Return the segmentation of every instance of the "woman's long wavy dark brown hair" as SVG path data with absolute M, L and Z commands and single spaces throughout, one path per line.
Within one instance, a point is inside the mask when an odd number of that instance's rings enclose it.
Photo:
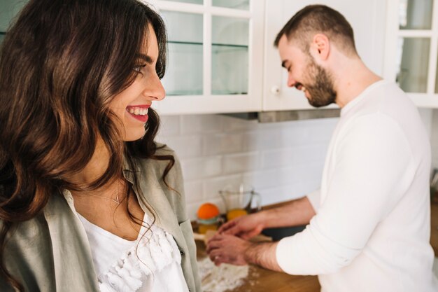
M 148 112 L 145 136 L 125 143 L 108 109 L 134 81 L 148 25 L 157 36 L 162 78 L 164 22 L 137 0 L 31 0 L 6 33 L 0 48 L 0 276 L 18 291 L 22 285 L 3 263 L 6 235 L 41 212 L 51 195 L 104 186 L 120 176 L 124 158 L 132 169 L 136 158 L 169 160 L 164 180 L 174 165 L 171 155 L 155 155 L 155 111 Z M 85 187 L 62 179 L 90 162 L 99 138 L 110 153 L 106 172 Z M 129 188 L 139 190 L 134 181 Z

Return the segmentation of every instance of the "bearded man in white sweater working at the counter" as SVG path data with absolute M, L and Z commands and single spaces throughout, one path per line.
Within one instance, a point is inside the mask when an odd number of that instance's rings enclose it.
M 216 265 L 254 263 L 318 274 L 325 292 L 432 292 L 430 145 L 418 111 L 360 60 L 353 29 L 327 6 L 306 6 L 276 37 L 288 86 L 341 118 L 321 188 L 277 209 L 222 225 L 207 251 Z M 308 224 L 280 242 L 246 241 L 264 228 Z

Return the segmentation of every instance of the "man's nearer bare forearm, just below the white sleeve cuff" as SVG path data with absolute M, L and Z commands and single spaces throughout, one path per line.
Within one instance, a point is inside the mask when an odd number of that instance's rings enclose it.
M 277 242 L 258 242 L 246 249 L 244 258 L 247 263 L 260 265 L 266 269 L 283 272 L 276 259 Z

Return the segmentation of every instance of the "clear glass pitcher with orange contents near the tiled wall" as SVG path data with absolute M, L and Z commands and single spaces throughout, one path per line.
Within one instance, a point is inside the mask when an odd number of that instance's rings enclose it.
M 262 209 L 260 194 L 255 192 L 253 186 L 246 183 L 241 183 L 238 186 L 228 185 L 220 190 L 219 194 L 225 203 L 227 221 L 249 214 L 252 211 L 252 206 L 255 206 L 256 211 Z

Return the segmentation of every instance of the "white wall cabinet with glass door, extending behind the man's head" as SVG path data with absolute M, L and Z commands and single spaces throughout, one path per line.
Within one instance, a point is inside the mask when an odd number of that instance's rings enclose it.
M 155 0 L 169 31 L 169 67 L 162 114 L 313 109 L 288 88 L 273 42 L 299 9 L 315 1 Z M 324 0 L 355 31 L 358 52 L 382 74 L 386 0 Z M 335 105 L 329 106 L 336 108 Z

